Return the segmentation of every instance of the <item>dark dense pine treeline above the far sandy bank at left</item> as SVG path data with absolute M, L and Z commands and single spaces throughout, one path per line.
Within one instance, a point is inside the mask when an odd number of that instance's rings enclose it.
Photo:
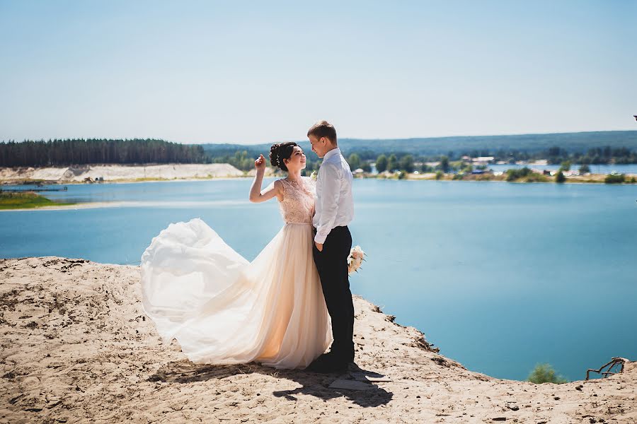
M 0 166 L 45 167 L 89 163 L 207 163 L 200 145 L 155 139 L 26 140 L 0 143 Z

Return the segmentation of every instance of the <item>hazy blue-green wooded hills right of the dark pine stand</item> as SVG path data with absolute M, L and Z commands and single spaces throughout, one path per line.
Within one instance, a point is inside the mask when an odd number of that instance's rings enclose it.
M 307 155 L 307 170 L 317 169 L 320 160 L 311 153 L 308 141 L 299 141 Z M 637 163 L 637 131 L 595 131 L 512 136 L 462 136 L 430 139 L 362 140 L 339 139 L 338 146 L 352 170 L 430 171 L 415 163 L 457 161 L 463 156 L 493 156 L 494 161 L 547 160 L 550 164 Z M 270 144 L 203 144 L 213 162 L 231 163 L 241 170 L 253 166 L 253 158 L 267 157 Z M 378 166 L 380 163 L 380 166 Z M 443 166 L 446 167 L 446 166 Z M 445 171 L 446 172 L 446 171 Z

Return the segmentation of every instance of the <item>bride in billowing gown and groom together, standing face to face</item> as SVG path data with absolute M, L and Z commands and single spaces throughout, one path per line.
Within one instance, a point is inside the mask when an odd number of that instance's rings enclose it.
M 265 158 L 255 161 L 250 200 L 276 197 L 285 225 L 253 261 L 199 218 L 168 225 L 142 254 L 144 311 L 194 363 L 343 372 L 354 361 L 352 172 L 331 124 L 317 122 L 307 136 L 323 158 L 316 182 L 301 176 L 296 143 L 270 148 L 287 176 L 263 191 Z

